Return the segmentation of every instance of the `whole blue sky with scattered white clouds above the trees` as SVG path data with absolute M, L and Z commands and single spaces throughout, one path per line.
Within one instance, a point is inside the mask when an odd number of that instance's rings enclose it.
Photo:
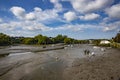
M 0 33 L 110 39 L 120 30 L 119 0 L 0 0 Z

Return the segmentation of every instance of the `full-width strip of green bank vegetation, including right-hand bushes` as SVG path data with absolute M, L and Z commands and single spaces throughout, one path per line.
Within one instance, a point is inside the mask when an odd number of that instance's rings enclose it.
M 47 45 L 47 44 L 88 44 L 92 43 L 96 46 L 104 47 L 120 47 L 120 32 L 116 34 L 112 39 L 106 39 L 110 41 L 110 44 L 100 44 L 105 39 L 88 39 L 88 40 L 77 40 L 70 38 L 66 35 L 58 34 L 55 37 L 47 37 L 44 35 L 36 35 L 34 37 L 11 37 L 9 35 L 0 33 L 0 46 L 7 46 L 12 44 L 27 44 L 27 45 Z

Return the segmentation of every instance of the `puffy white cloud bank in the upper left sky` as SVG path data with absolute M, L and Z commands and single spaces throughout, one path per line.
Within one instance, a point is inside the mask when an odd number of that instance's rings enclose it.
M 43 11 L 41 8 L 35 7 L 34 11 L 26 13 L 24 8 L 14 6 L 10 8 L 10 11 L 21 20 L 44 21 L 58 18 L 58 14 L 55 9 L 47 9 Z

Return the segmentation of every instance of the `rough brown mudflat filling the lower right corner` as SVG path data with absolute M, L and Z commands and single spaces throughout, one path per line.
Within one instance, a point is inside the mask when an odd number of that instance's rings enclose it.
M 64 80 L 120 80 L 120 50 L 109 49 L 101 56 L 76 59 Z

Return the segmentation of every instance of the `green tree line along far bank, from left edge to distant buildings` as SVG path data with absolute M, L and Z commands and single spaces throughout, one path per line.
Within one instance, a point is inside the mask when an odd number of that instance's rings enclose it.
M 0 33 L 0 46 L 11 44 L 29 44 L 29 45 L 46 45 L 46 44 L 83 44 L 89 43 L 88 40 L 76 40 L 66 35 L 58 34 L 56 37 L 47 37 L 41 34 L 34 37 L 10 37 L 9 35 Z

